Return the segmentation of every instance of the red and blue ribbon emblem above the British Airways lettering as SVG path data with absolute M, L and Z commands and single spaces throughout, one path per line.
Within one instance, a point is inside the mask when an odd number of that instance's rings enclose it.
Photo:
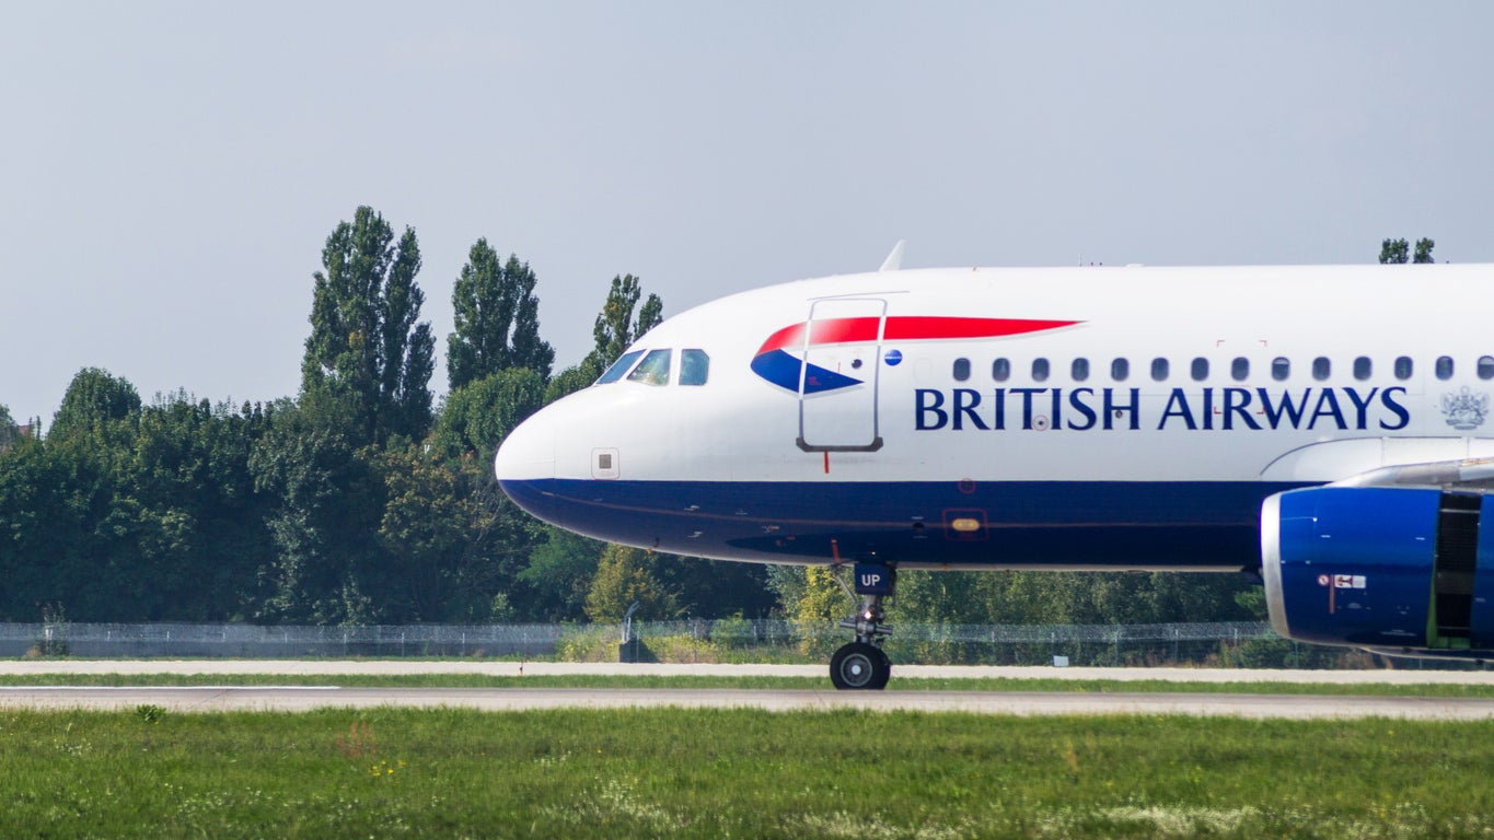
M 999 339 L 1004 336 L 1061 330 L 1074 324 L 1079 324 L 1079 321 L 944 318 L 934 315 L 825 318 L 792 324 L 768 336 L 768 340 L 753 355 L 751 372 L 778 388 L 796 394 L 799 392 L 801 382 L 805 394 L 822 394 L 825 391 L 861 385 L 865 380 L 814 364 L 814 348 L 872 345 L 878 340 L 889 343 L 944 339 Z M 805 358 L 811 361 L 805 363 Z M 887 351 L 887 364 L 898 364 L 901 358 L 902 354 L 896 349 Z

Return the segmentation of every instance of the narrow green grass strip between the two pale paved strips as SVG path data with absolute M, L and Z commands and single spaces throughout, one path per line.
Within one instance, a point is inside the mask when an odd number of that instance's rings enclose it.
M 893 671 L 895 673 L 895 671 Z M 829 676 L 484 676 L 484 674 L 0 674 L 0 686 L 339 685 L 348 688 L 726 688 L 831 691 Z M 1494 698 L 1494 685 L 1167 682 L 1074 679 L 920 679 L 893 676 L 892 691 L 1074 691 L 1092 694 L 1334 694 Z

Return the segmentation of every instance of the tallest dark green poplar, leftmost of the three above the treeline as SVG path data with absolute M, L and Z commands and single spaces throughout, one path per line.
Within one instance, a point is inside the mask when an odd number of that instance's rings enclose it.
M 435 339 L 417 324 L 420 243 L 371 207 L 341 222 L 321 251 L 302 361 L 302 394 L 330 391 L 356 418 L 360 443 L 420 439 L 430 425 Z

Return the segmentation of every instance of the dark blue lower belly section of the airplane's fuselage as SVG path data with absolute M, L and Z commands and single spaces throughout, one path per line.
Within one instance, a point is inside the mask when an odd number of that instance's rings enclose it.
M 1239 570 L 1259 565 L 1261 501 L 1283 482 L 506 480 L 583 534 L 759 562 Z

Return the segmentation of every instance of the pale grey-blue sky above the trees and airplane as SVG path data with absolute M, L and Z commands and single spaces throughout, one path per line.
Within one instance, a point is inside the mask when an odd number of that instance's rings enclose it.
M 7 3 L 0 403 L 49 421 L 85 366 L 294 395 L 359 204 L 417 230 L 441 346 L 472 242 L 527 260 L 562 366 L 613 275 L 672 313 L 898 239 L 1494 261 L 1491 31 L 1487 3 Z

